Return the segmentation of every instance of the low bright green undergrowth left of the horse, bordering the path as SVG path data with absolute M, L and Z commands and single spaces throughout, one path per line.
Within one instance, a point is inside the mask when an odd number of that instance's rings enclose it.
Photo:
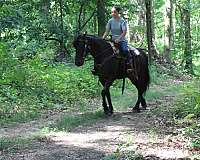
M 42 62 L 38 54 L 22 61 L 16 55 L 0 44 L 1 123 L 32 119 L 46 109 L 66 108 L 99 95 L 97 81 L 88 68 L 90 64 L 84 68 L 53 66 Z

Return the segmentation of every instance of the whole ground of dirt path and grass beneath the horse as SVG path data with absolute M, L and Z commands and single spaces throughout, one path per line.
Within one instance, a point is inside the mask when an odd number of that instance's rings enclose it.
M 172 83 L 181 85 L 180 81 Z M 190 149 L 190 139 L 181 134 L 184 126 L 174 124 L 170 110 L 181 95 L 173 89 L 166 91 L 167 87 L 150 87 L 150 91 L 162 95 L 147 98 L 148 109 L 141 113 L 116 107 L 112 116 L 69 131 L 49 128 L 63 117 L 78 117 L 79 113 L 50 111 L 34 121 L 0 128 L 0 146 L 4 146 L 0 160 L 128 160 L 134 159 L 133 155 L 142 155 L 143 159 L 192 159 L 200 153 Z M 115 95 L 114 106 L 123 105 L 130 96 L 129 91 L 121 99 Z M 101 108 L 100 100 L 94 100 L 94 104 L 95 109 Z

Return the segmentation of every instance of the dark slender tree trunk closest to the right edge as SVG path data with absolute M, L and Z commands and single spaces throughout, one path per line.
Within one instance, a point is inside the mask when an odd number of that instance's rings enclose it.
M 191 29 L 190 29 L 190 0 L 187 0 L 187 6 L 183 9 L 184 14 L 184 29 L 185 29 L 185 69 L 188 73 L 193 74 L 192 67 L 192 42 L 191 42 Z

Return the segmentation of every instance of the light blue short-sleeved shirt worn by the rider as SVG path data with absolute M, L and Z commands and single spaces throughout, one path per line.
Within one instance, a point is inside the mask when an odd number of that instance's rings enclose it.
M 127 31 L 127 24 L 123 18 L 116 20 L 115 18 L 111 18 L 107 25 L 106 31 L 112 34 L 112 40 L 116 40 L 123 33 L 123 31 Z M 125 37 L 122 37 L 120 41 L 127 41 Z

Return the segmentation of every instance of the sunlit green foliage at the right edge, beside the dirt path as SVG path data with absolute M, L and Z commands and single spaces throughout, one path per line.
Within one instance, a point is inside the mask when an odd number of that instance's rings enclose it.
M 200 83 L 198 80 L 186 84 L 182 90 L 181 99 L 172 109 L 178 124 L 185 125 L 183 135 L 191 138 L 189 147 L 194 150 L 200 149 Z

